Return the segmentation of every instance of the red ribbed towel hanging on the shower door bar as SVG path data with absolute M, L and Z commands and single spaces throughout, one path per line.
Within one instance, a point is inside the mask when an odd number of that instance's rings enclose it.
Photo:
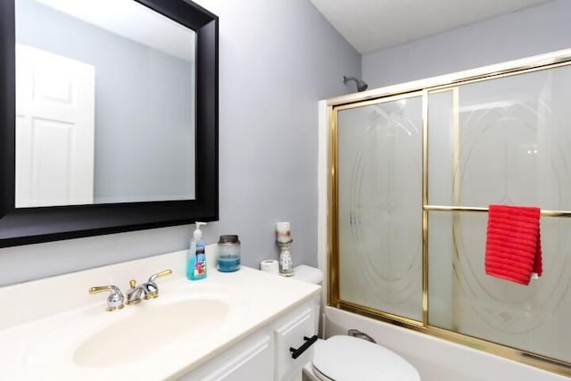
M 490 205 L 485 242 L 485 273 L 529 285 L 542 275 L 540 210 L 528 206 Z

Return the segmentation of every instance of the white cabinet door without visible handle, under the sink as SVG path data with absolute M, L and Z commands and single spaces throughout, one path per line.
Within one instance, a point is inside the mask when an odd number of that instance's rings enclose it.
M 185 381 L 269 381 L 274 377 L 271 337 L 238 344 L 217 359 L 180 378 Z

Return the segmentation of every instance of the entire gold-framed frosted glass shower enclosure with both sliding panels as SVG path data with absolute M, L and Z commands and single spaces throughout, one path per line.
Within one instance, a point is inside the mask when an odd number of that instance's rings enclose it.
M 571 376 L 571 50 L 330 105 L 330 304 Z M 488 205 L 542 210 L 543 275 L 484 271 Z

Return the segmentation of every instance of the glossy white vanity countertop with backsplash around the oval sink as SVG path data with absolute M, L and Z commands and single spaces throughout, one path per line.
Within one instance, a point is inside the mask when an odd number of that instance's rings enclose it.
M 236 272 L 220 273 L 213 266 L 211 246 L 207 246 L 208 277 L 198 281 L 186 279 L 186 252 L 182 251 L 0 287 L 4 307 L 0 314 L 0 378 L 160 380 L 180 377 L 271 320 L 319 295 L 319 286 L 255 269 L 242 267 Z M 141 283 L 163 269 L 172 269 L 173 274 L 157 279 L 159 298 L 126 305 L 120 311 L 105 311 L 107 293 L 87 293 L 90 286 L 114 285 L 127 294 L 131 277 Z M 197 341 L 181 335 L 154 350 L 156 339 L 145 332 L 145 327 L 137 327 L 135 332 L 140 330 L 140 335 L 134 336 L 131 343 L 116 344 L 118 348 L 124 346 L 132 348 L 133 353 L 141 353 L 136 360 L 104 367 L 79 366 L 74 361 L 80 344 L 110 324 L 128 325 L 130 321 L 137 324 L 137 312 L 145 308 L 159 311 L 158 306 L 197 295 L 222 298 L 230 305 L 227 323 L 213 332 L 207 330 L 202 339 Z M 200 317 L 201 311 L 195 312 Z M 208 321 L 200 321 L 208 327 Z

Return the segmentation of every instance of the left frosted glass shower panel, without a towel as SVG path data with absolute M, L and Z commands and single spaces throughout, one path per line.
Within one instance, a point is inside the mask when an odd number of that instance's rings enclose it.
M 343 300 L 422 319 L 422 96 L 339 111 Z

